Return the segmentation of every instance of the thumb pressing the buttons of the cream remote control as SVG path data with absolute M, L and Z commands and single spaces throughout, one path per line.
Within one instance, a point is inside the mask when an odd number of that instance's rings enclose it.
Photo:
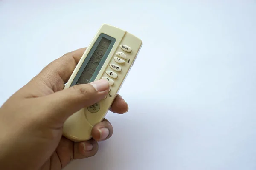
M 101 79 L 89 84 L 79 84 L 45 96 L 47 113 L 65 121 L 81 108 L 99 102 L 108 94 L 110 84 L 108 80 Z

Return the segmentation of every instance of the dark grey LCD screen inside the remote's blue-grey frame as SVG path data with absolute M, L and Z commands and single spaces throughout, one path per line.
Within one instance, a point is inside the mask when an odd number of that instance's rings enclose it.
M 111 40 L 108 40 L 107 38 L 102 37 L 102 39 L 99 42 L 99 45 L 96 47 L 95 51 L 93 52 L 92 57 L 90 58 L 86 67 L 84 68 L 84 71 L 82 72 L 76 84 L 87 84 L 90 81 L 96 69 L 100 69 L 97 67 L 99 63 L 102 61 L 102 57 L 106 53 L 110 44 L 111 44 Z

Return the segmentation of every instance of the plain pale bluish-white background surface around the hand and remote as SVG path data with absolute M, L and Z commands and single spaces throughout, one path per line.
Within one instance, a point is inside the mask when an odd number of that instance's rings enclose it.
M 0 103 L 102 25 L 143 47 L 111 139 L 65 170 L 255 170 L 256 1 L 1 0 Z

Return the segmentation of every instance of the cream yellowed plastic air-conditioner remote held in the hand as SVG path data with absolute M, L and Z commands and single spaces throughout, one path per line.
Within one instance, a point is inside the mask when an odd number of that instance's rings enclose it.
M 83 108 L 64 123 L 63 135 L 75 142 L 89 140 L 94 125 L 101 122 L 122 86 L 142 41 L 114 26 L 103 24 L 84 51 L 65 88 L 107 79 L 111 90 L 100 102 Z

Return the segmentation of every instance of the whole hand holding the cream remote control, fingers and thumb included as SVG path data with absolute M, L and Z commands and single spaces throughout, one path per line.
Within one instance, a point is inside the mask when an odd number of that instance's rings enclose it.
M 73 159 L 95 155 L 97 141 L 111 137 L 113 127 L 106 119 L 93 127 L 88 141 L 72 142 L 62 136 L 70 115 L 108 94 L 107 80 L 63 90 L 84 51 L 51 62 L 0 108 L 1 170 L 61 170 Z M 117 95 L 110 110 L 122 114 L 128 105 Z

